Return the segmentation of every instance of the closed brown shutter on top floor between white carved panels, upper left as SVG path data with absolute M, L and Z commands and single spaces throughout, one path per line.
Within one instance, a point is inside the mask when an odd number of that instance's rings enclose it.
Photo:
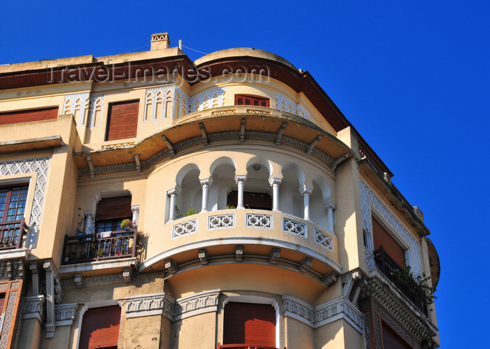
M 109 105 L 106 141 L 134 138 L 138 129 L 139 101 L 125 101 Z

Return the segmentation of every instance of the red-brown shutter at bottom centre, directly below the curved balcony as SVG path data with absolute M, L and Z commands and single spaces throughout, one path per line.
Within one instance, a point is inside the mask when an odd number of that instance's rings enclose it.
M 267 304 L 226 304 L 223 344 L 275 347 L 276 311 Z

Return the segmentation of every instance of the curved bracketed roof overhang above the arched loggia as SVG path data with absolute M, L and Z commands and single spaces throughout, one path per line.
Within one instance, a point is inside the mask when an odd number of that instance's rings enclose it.
M 335 136 L 297 115 L 272 108 L 230 106 L 213 108 L 175 120 L 172 127 L 145 138 L 134 145 L 78 152 L 73 158 L 81 173 L 97 173 L 97 168 L 114 165 L 114 171 L 144 169 L 161 159 L 179 155 L 184 150 L 205 149 L 221 141 L 263 140 L 272 147 L 290 146 L 316 157 L 335 171 L 335 166 L 353 157 L 353 151 Z M 134 157 L 138 155 L 139 165 Z M 90 163 L 89 163 L 90 162 Z M 87 166 L 88 165 L 88 166 Z

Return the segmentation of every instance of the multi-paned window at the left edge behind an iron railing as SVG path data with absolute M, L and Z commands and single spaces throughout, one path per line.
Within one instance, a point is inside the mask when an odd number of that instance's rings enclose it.
M 28 185 L 0 187 L 0 248 L 19 247 L 28 190 Z

